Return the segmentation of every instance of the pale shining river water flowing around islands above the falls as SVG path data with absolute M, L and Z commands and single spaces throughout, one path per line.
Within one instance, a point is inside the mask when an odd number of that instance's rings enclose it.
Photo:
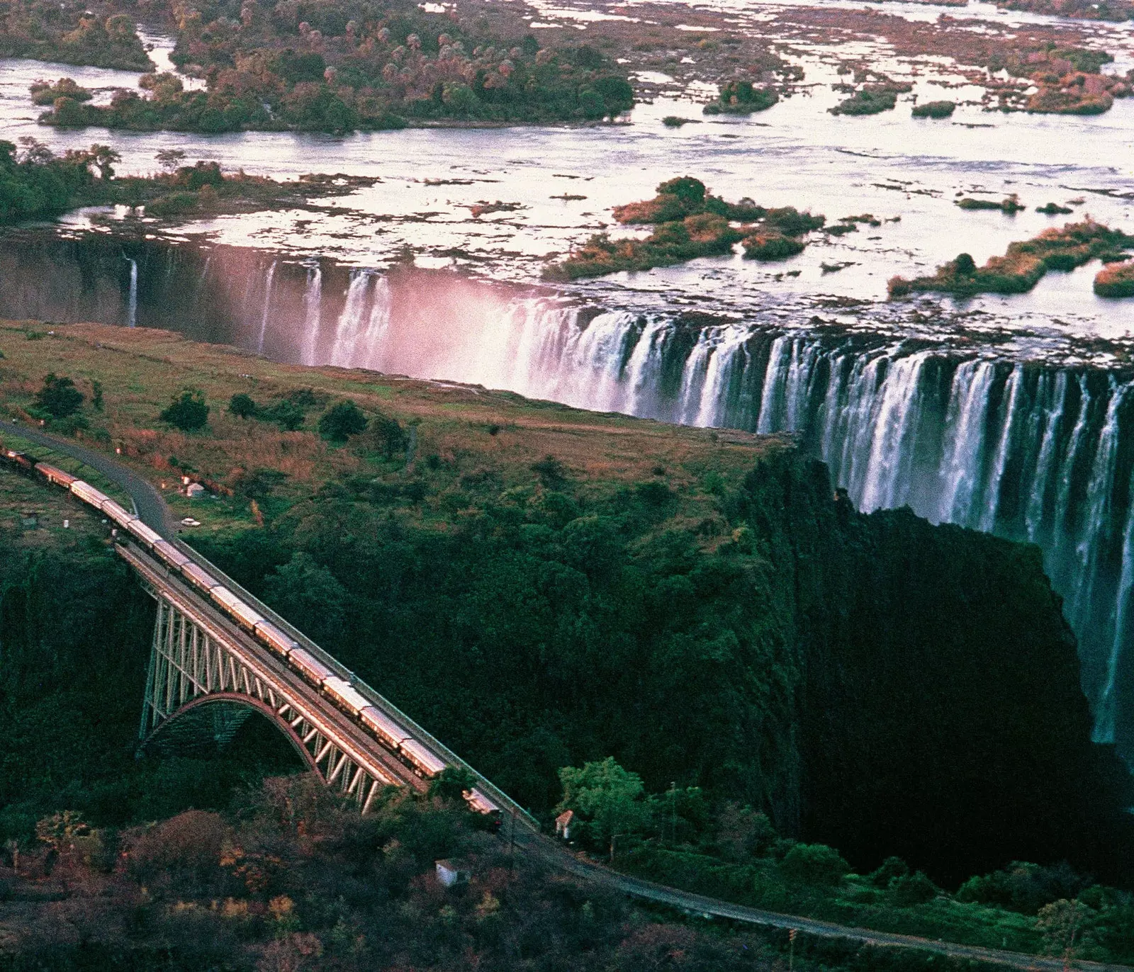
M 770 16 L 768 11 L 777 9 L 735 6 L 737 17 Z M 886 6 L 887 12 L 905 11 L 903 16 L 912 18 L 958 15 L 956 8 Z M 985 7 L 973 5 L 962 12 L 1021 23 L 1029 17 L 993 15 Z M 1134 62 L 1128 25 L 1093 28 L 1116 54 L 1116 68 Z M 168 41 L 149 40 L 156 44 L 159 60 L 168 63 Z M 966 97 L 975 101 L 975 93 L 947 59 L 898 57 L 879 41 L 869 51 L 871 62 L 896 79 L 912 82 L 913 94 L 903 96 L 895 111 L 837 117 L 828 112 L 843 97 L 832 89 L 841 77 L 831 50 L 801 44 L 793 50 L 804 84 L 750 118 L 702 116 L 706 94 L 694 85 L 640 104 L 624 123 L 613 126 L 428 128 L 341 138 L 68 131 L 35 122 L 39 109 L 27 97 L 32 80 L 68 75 L 107 97 L 115 86 L 135 84 L 136 75 L 3 61 L 0 125 L 6 137 L 33 136 L 57 151 L 111 140 L 122 154 L 121 171 L 132 173 L 153 171 L 158 151 L 180 148 L 191 160 L 215 159 L 229 169 L 278 179 L 310 171 L 378 177 L 378 185 L 324 201 L 316 212 L 220 216 L 176 232 L 154 228 L 174 238 L 193 236 L 374 268 L 403 258 L 408 246 L 421 266 L 452 266 L 493 280 L 534 283 L 549 261 L 594 232 L 640 232 L 612 224 L 611 206 L 648 198 L 660 181 L 677 174 L 696 176 L 729 199 L 747 196 L 762 205 L 794 205 L 829 221 L 873 214 L 882 221 L 877 229 L 860 225 L 843 237 L 816 233 L 803 254 L 784 262 L 713 257 L 570 288 L 575 295 L 602 295 L 607 302 L 635 306 L 676 302 L 741 315 L 778 308 L 801 324 L 822 308 L 865 301 L 869 306 L 858 306 L 853 321 L 843 323 L 892 327 L 912 316 L 917 330 L 924 330 L 924 308 L 906 313 L 913 304 L 886 305 L 890 276 L 931 273 L 959 251 L 981 263 L 1004 253 L 1013 240 L 1086 214 L 1134 230 L 1134 99 L 1118 101 L 1097 117 L 989 112 L 964 103 Z M 914 96 L 962 103 L 953 119 L 919 120 L 909 116 Z M 693 123 L 666 128 L 661 119 L 667 116 Z M 955 205 L 959 196 L 999 201 L 1009 194 L 1026 206 L 1014 216 Z M 507 208 L 475 215 L 474 207 L 485 203 Z M 1073 215 L 1035 212 L 1048 203 L 1066 205 Z M 81 229 L 91 224 L 91 215 L 65 223 Z M 1098 268 L 1093 262 L 1072 273 L 1049 273 L 1027 295 L 963 302 L 933 298 L 930 316 L 939 323 L 928 326 L 950 329 L 959 315 L 972 329 L 1017 332 L 1025 348 L 1031 336 L 1036 349 L 1053 342 L 1065 351 L 1083 339 L 1086 359 L 1106 360 L 1111 349 L 1100 352 L 1098 340 L 1125 343 L 1134 332 L 1134 314 L 1127 304 L 1093 295 Z

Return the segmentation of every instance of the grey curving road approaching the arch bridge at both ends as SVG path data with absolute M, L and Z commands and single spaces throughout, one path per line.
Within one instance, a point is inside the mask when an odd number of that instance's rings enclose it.
M 176 536 L 178 525 L 170 514 L 161 493 L 152 483 L 149 483 L 133 469 L 104 453 L 95 452 L 74 442 L 57 438 L 53 435 L 48 435 L 34 428 L 28 428 L 20 423 L 0 424 L 0 433 L 9 425 L 14 434 L 39 445 L 62 452 L 96 469 L 130 495 L 134 500 L 137 515 L 146 526 L 152 527 L 164 537 Z M 501 829 L 501 836 L 505 839 L 514 839 L 517 847 L 521 847 L 533 858 L 538 858 L 583 880 L 600 884 L 631 897 L 655 902 L 691 914 L 711 915 L 746 924 L 759 924 L 765 928 L 794 928 L 824 938 L 847 938 L 853 941 L 890 948 L 919 948 L 939 955 L 948 955 L 954 958 L 989 962 L 1021 970 L 1063 972 L 1064 969 L 1068 967 L 1060 958 L 1044 958 L 1025 955 L 1019 952 L 1008 952 L 1000 948 L 981 948 L 975 945 L 958 945 L 951 941 L 934 941 L 912 935 L 891 935 L 885 931 L 871 931 L 870 929 L 836 924 L 830 921 L 819 921 L 799 915 L 762 911 L 755 907 L 733 904 L 719 898 L 693 894 L 692 892 L 679 890 L 678 888 L 666 887 L 665 885 L 621 875 L 601 864 L 582 860 L 568 853 L 556 841 L 539 834 L 524 824 L 514 827 L 511 824 L 506 822 Z M 1131 972 L 1131 967 L 1127 965 L 1106 965 L 1098 962 L 1073 962 L 1069 967 L 1085 970 L 1085 972 Z

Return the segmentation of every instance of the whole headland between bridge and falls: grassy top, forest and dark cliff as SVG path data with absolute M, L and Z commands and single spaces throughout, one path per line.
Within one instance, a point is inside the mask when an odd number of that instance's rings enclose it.
M 5 410 L 120 449 L 204 523 L 191 543 L 536 811 L 613 756 L 858 867 L 1117 867 L 1031 548 L 861 515 L 773 438 L 48 330 L 0 330 Z M 36 404 L 49 372 L 77 410 Z M 159 418 L 181 386 L 197 432 Z

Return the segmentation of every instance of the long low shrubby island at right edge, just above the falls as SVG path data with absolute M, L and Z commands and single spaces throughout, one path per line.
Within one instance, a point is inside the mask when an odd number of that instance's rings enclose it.
M 1074 270 L 1091 259 L 1116 256 L 1129 247 L 1134 247 L 1134 237 L 1088 216 L 1081 223 L 1067 223 L 1063 229 L 1052 227 L 1033 239 L 1009 244 L 1004 256 L 992 257 L 984 266 L 976 266 L 973 258 L 963 253 L 938 267 L 932 276 L 891 278 L 889 293 L 890 297 L 904 297 L 914 291 L 960 296 L 1026 293 L 1049 270 Z

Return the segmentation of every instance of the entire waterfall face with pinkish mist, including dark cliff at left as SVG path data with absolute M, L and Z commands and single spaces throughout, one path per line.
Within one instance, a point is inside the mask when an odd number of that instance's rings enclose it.
M 1134 374 L 840 326 L 579 306 L 452 274 L 255 250 L 14 238 L 6 315 L 167 327 L 274 360 L 794 433 L 864 511 L 1043 551 L 1094 737 L 1134 760 Z M 124 259 L 125 255 L 125 259 Z M 778 321 L 778 318 L 770 318 Z M 1026 647 L 1026 646 L 1025 646 Z

